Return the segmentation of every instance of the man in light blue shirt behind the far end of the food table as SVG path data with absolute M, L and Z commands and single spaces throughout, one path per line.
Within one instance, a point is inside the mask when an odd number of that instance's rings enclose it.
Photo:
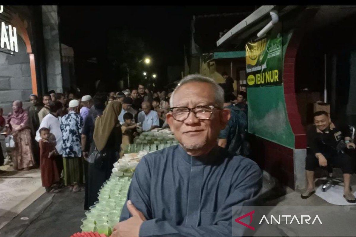
M 142 130 L 151 131 L 152 129 L 159 128 L 158 113 L 151 110 L 151 103 L 144 101 L 141 106 L 142 111 L 138 113 L 137 122 L 142 124 Z

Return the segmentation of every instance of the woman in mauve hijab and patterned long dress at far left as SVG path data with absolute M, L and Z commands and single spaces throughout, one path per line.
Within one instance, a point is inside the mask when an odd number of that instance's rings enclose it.
M 13 166 L 17 170 L 29 170 L 35 166 L 32 151 L 31 129 L 28 125 L 28 112 L 22 109 L 21 101 L 12 103 L 6 132 L 14 136 L 15 149 L 12 152 Z

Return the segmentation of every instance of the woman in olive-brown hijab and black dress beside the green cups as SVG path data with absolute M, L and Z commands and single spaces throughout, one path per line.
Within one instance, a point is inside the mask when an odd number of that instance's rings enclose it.
M 94 123 L 94 145 L 101 153 L 106 153 L 101 167 L 89 163 L 88 170 L 88 206 L 98 201 L 100 186 L 110 178 L 111 170 L 117 161 L 116 152 L 120 152 L 121 128 L 119 114 L 121 103 L 112 101 L 106 106 L 103 115 L 95 119 Z M 90 149 L 93 150 L 93 149 Z

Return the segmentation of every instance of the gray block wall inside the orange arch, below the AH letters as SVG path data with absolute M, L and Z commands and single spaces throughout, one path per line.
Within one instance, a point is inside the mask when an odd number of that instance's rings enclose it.
M 19 52 L 14 55 L 0 52 L 0 107 L 4 115 L 11 112 L 15 100 L 21 100 L 27 107 L 32 93 L 30 58 L 19 35 L 17 41 Z

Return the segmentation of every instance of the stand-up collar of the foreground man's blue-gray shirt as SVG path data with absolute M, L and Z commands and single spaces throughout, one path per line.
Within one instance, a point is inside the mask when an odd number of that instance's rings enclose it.
M 177 145 L 177 151 L 178 157 L 182 157 L 184 161 L 192 166 L 212 165 L 216 163 L 218 157 L 224 155 L 221 153 L 221 149 L 219 149 L 218 145 L 216 145 L 208 154 L 204 156 L 190 156 L 181 145 Z

